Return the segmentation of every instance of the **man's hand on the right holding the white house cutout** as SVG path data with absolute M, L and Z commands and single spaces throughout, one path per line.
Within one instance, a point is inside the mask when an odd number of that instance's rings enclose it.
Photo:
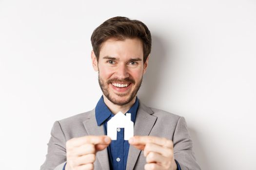
M 129 143 L 144 150 L 147 162 L 145 170 L 177 170 L 171 140 L 155 136 L 133 136 Z

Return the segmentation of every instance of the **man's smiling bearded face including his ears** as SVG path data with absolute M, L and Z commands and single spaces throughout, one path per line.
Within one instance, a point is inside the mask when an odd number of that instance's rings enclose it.
M 92 51 L 92 62 L 107 100 L 125 105 L 135 99 L 148 65 L 148 59 L 143 64 L 143 47 L 138 38 L 105 41 L 98 61 Z

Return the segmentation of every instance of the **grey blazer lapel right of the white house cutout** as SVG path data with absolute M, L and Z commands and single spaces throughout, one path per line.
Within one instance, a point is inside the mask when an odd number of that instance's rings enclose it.
M 148 136 L 157 117 L 152 116 L 153 111 L 139 101 L 138 112 L 134 125 L 134 136 Z M 130 145 L 126 170 L 133 170 L 141 151 Z

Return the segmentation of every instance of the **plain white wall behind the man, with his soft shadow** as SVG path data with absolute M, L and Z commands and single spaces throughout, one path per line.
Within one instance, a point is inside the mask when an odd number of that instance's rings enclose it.
M 150 29 L 139 98 L 185 117 L 202 170 L 256 170 L 255 0 L 0 0 L 0 168 L 38 170 L 55 120 L 101 96 L 90 36 Z

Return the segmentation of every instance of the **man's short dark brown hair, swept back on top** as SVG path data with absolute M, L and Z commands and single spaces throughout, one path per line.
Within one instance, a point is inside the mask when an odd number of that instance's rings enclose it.
M 127 17 L 112 17 L 98 26 L 91 36 L 93 51 L 98 60 L 101 45 L 106 40 L 114 38 L 139 38 L 143 44 L 143 61 L 145 62 L 151 51 L 151 34 L 147 26 L 139 20 Z

